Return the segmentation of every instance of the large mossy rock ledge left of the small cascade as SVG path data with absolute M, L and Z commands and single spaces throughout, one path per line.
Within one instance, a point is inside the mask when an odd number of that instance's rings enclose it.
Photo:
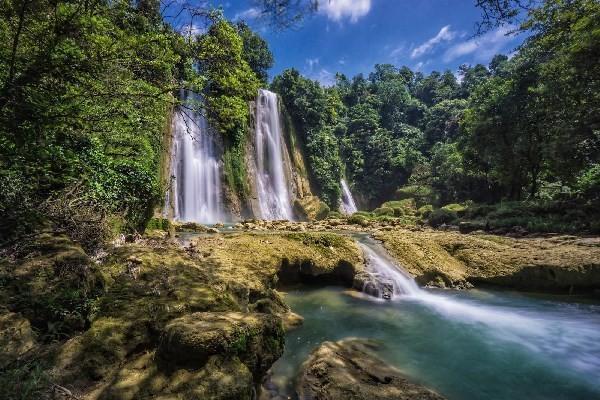
M 282 320 L 301 323 L 278 281 L 351 286 L 363 268 L 329 233 L 164 236 L 94 257 L 52 232 L 4 249 L 0 398 L 250 400 Z

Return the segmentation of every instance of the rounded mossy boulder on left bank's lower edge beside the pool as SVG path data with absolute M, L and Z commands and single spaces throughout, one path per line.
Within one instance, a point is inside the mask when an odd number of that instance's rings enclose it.
M 167 324 L 159 354 L 178 366 L 200 367 L 210 356 L 237 356 L 262 375 L 283 353 L 283 326 L 273 315 L 199 312 Z

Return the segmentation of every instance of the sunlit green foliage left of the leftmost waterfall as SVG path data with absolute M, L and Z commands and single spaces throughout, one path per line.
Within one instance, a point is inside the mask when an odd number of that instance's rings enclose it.
M 73 204 L 139 228 L 159 198 L 179 36 L 123 2 L 4 2 L 0 14 L 2 235 L 33 229 L 71 187 L 83 188 Z

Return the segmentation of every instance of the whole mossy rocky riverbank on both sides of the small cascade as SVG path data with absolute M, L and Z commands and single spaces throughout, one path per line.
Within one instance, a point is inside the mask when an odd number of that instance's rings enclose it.
M 3 249 L 0 397 L 251 399 L 283 351 L 284 328 L 302 321 L 276 289 L 356 286 L 364 260 L 353 232 L 382 241 L 421 285 L 600 288 L 598 238 L 335 220 L 237 228 L 176 239 L 158 230 L 93 255 L 55 232 Z

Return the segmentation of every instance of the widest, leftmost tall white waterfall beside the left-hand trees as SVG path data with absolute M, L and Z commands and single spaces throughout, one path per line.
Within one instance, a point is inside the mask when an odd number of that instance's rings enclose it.
M 190 106 L 202 101 L 189 91 L 181 96 Z M 204 115 L 189 108 L 180 107 L 173 121 L 171 174 L 175 179 L 168 201 L 176 220 L 215 223 L 224 214 L 219 151 Z

